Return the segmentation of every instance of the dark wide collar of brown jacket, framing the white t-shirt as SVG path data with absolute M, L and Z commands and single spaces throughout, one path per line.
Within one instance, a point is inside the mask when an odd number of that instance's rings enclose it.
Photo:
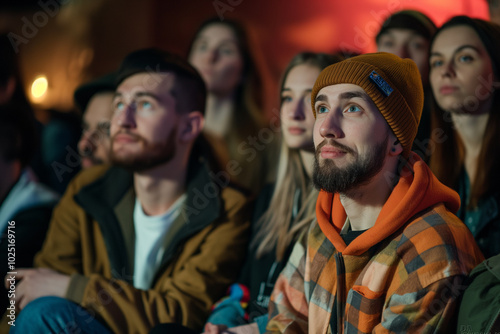
M 183 240 L 219 217 L 222 189 L 212 175 L 204 158 L 191 157 L 186 184 L 188 196 L 181 213 L 185 223 L 167 245 L 163 262 L 172 257 Z M 113 277 L 128 282 L 133 281 L 134 272 L 134 200 L 133 174 L 118 167 L 111 167 L 75 195 L 75 201 L 99 224 Z

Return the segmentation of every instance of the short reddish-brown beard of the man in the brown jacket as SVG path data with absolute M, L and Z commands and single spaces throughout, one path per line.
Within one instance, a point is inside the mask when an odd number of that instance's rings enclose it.
M 137 154 L 135 156 L 124 158 L 118 157 L 113 152 L 113 137 L 111 140 L 111 163 L 115 166 L 123 167 L 132 172 L 141 172 L 166 163 L 175 156 L 175 138 L 177 129 L 173 129 L 165 141 L 153 144 L 148 143 L 140 136 L 133 135 L 128 132 L 126 133 L 142 142 L 144 150 L 141 154 Z

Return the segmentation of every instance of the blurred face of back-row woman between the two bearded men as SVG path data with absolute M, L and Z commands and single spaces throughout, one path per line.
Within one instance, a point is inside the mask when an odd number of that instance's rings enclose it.
M 224 24 L 211 24 L 198 33 L 189 62 L 200 72 L 211 94 L 230 95 L 242 80 L 244 64 L 238 40 Z

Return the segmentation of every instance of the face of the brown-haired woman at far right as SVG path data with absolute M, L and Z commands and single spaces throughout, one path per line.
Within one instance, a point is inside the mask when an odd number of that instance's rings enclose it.
M 441 109 L 468 114 L 489 112 L 493 67 L 472 28 L 460 25 L 439 32 L 429 62 L 432 92 Z

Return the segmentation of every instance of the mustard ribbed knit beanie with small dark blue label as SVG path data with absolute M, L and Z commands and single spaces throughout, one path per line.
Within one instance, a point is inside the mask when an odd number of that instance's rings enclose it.
M 417 134 L 424 105 L 424 91 L 417 65 L 386 52 L 353 57 L 325 68 L 311 92 L 314 104 L 318 92 L 326 86 L 349 83 L 360 86 L 384 116 L 407 158 Z

